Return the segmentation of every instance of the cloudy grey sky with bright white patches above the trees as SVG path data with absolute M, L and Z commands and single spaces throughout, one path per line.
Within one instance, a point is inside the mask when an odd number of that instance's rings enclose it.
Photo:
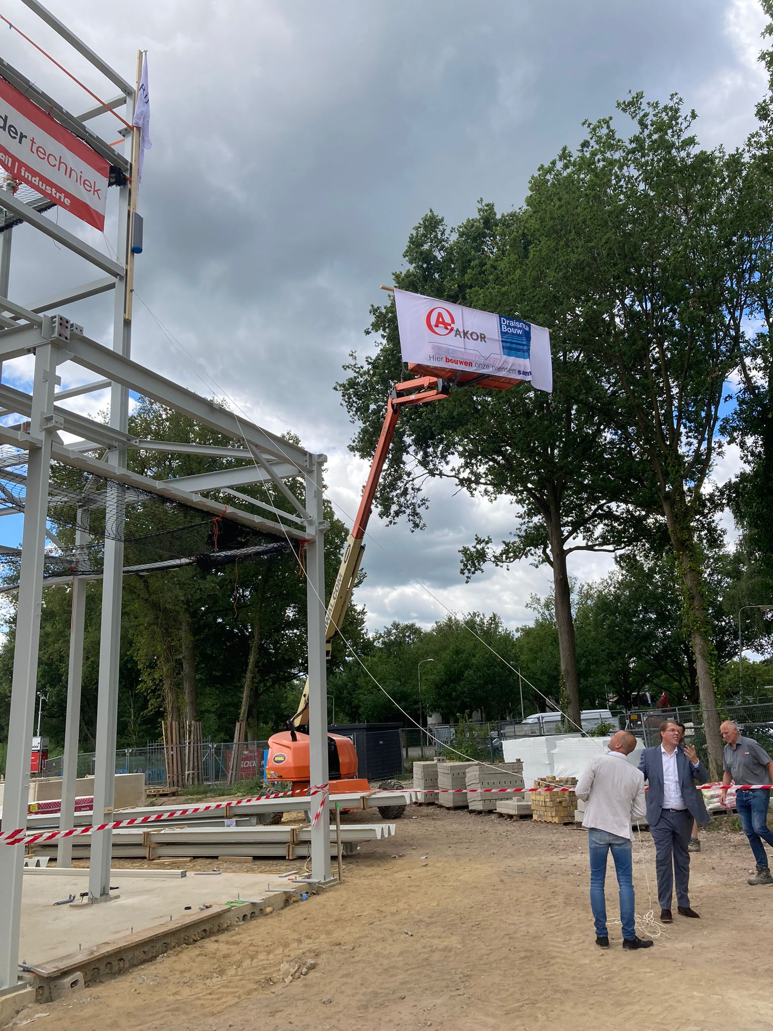
M 629 90 L 681 94 L 699 112 L 702 142 L 733 146 L 765 89 L 757 0 L 48 6 L 131 81 L 137 48 L 148 53 L 153 149 L 133 357 L 326 453 L 330 497 L 347 522 L 367 464 L 347 450 L 352 428 L 333 385 L 349 351 L 373 346 L 369 305 L 383 301 L 379 285 L 391 282 L 422 215 L 432 207 L 456 225 L 479 197 L 518 206 L 537 165 L 576 145 L 582 120 L 610 113 Z M 21 0 L 6 0 L 3 12 L 97 96 L 113 96 Z M 92 106 L 16 33 L 0 31 L 5 60 L 75 113 Z M 117 139 L 111 115 L 92 125 Z M 47 217 L 106 250 L 65 212 Z M 114 221 L 106 235 L 114 240 Z M 14 232 L 12 298 L 33 301 L 99 274 L 39 234 Z M 68 313 L 109 342 L 107 298 Z M 22 384 L 28 368 L 8 373 Z M 104 403 L 88 395 L 73 406 L 94 413 Z M 737 461 L 729 453 L 717 478 Z M 501 539 L 516 512 L 444 485 L 431 497 L 421 534 L 371 522 L 357 597 L 371 629 L 429 625 L 447 610 L 530 622 L 526 602 L 547 591 L 546 569 L 492 570 L 470 585 L 459 573 L 462 544 L 476 532 Z M 573 560 L 581 578 L 610 566 L 607 556 Z

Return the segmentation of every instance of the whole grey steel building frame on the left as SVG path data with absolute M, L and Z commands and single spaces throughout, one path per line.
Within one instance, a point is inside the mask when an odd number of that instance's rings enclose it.
M 0 477 L 13 465 L 22 464 L 27 453 L 25 497 L 19 503 L 24 512 L 21 572 L 16 604 L 16 637 L 11 685 L 11 705 L 8 726 L 6 779 L 3 796 L 5 830 L 27 826 L 34 704 L 37 692 L 37 660 L 40 612 L 43 590 L 43 559 L 49 501 L 49 469 L 53 460 L 93 473 L 108 480 L 107 494 L 111 507 L 123 521 L 132 492 L 142 491 L 161 498 L 210 512 L 228 514 L 231 520 L 288 541 L 306 544 L 308 673 L 310 680 L 310 761 L 311 783 L 328 784 L 327 752 L 327 686 L 325 661 L 325 530 L 323 511 L 324 455 L 310 453 L 272 434 L 260 426 L 234 415 L 192 391 L 132 361 L 132 284 L 131 226 L 137 202 L 133 171 L 138 159 L 137 133 L 124 130 L 124 148 L 128 156 L 104 142 L 86 123 L 119 107 L 134 110 L 136 90 L 98 55 L 59 22 L 38 0 L 23 0 L 27 7 L 53 28 L 94 68 L 101 72 L 120 95 L 103 106 L 92 107 L 73 115 L 53 98 L 42 93 L 21 72 L 0 61 L 0 76 L 43 107 L 61 125 L 97 151 L 124 173 L 126 180 L 116 187 L 117 232 L 114 240 L 114 261 L 75 234 L 58 226 L 26 204 L 12 192 L 0 190 L 0 207 L 13 219 L 13 225 L 25 224 L 68 251 L 96 266 L 106 276 L 80 287 L 61 291 L 42 301 L 20 304 L 8 298 L 10 245 L 13 232 L 0 233 L 0 363 L 5 365 L 22 356 L 34 356 L 34 379 L 31 393 L 18 390 L 0 377 L 0 406 L 3 414 L 16 413 L 21 423 L 0 427 Z M 138 74 L 139 78 L 139 58 Z M 127 121 L 131 121 L 127 115 Z M 126 144 L 129 144 L 127 146 Z M 122 178 L 124 177 L 122 176 Z M 91 339 L 81 326 L 56 313 L 56 309 L 99 294 L 113 293 L 112 339 L 110 346 Z M 54 311 L 55 313 L 52 313 Z M 61 383 L 58 369 L 74 363 L 98 378 L 82 387 L 57 391 Z M 0 366 L 1 368 L 2 366 Z M 110 390 L 110 420 L 105 426 L 87 419 L 65 404 L 67 399 L 90 391 Z M 129 392 L 152 398 L 190 417 L 220 433 L 231 437 L 231 447 L 197 446 L 166 440 L 140 440 L 129 433 Z M 75 440 L 65 439 L 65 434 Z M 178 452 L 242 458 L 249 465 L 223 468 L 199 476 L 155 480 L 127 469 L 130 450 Z M 290 481 L 290 483 L 289 483 Z M 292 511 L 278 510 L 240 493 L 237 488 L 247 484 L 264 484 L 280 493 Z M 303 490 L 299 490 L 302 485 Z M 233 497 L 233 505 L 207 493 L 224 491 Z M 81 499 L 86 503 L 86 499 Z M 269 497 L 269 501 L 270 501 Z M 239 504 L 241 502 L 241 504 Z M 256 516 L 243 503 L 267 512 Z M 85 526 L 88 522 L 83 521 Z M 115 534 L 120 537 L 121 534 Z M 77 543 L 88 542 L 88 529 L 78 530 Z M 106 538 L 102 575 L 102 618 L 99 656 L 99 687 L 97 708 L 96 770 L 94 789 L 94 824 L 109 821 L 114 797 L 114 755 L 119 694 L 119 657 L 121 640 L 121 602 L 124 577 L 123 540 Z M 80 679 L 83 650 L 86 583 L 75 577 L 72 590 L 72 626 L 68 670 L 67 722 L 65 732 L 62 810 L 60 827 L 69 829 L 74 820 L 75 774 L 80 708 Z M 318 796 L 310 801 L 314 809 Z M 92 902 L 109 900 L 111 832 L 95 832 L 91 840 L 89 898 Z M 71 846 L 67 840 L 59 850 L 58 863 L 69 865 Z M 9 989 L 19 979 L 19 940 L 22 902 L 24 849 L 0 842 L 0 991 Z M 317 882 L 330 880 L 330 824 L 324 812 L 312 827 L 311 871 Z

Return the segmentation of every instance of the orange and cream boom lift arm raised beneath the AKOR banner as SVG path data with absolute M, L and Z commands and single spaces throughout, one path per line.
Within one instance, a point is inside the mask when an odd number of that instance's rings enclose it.
M 392 438 L 395 436 L 397 421 L 400 417 L 400 409 L 411 404 L 425 404 L 428 401 L 441 401 L 448 396 L 450 385 L 444 379 L 437 379 L 433 376 L 421 376 L 417 379 L 408 379 L 405 383 L 397 384 L 392 388 L 386 402 L 386 413 L 383 417 L 381 433 L 378 437 L 373 461 L 370 466 L 370 473 L 365 484 L 362 501 L 355 517 L 355 525 L 351 528 L 346 546 L 343 551 L 343 558 L 338 569 L 333 593 L 325 614 L 325 648 L 328 659 L 330 658 L 331 645 L 336 631 L 343 623 L 348 611 L 351 596 L 355 593 L 355 583 L 360 571 L 360 563 L 365 551 L 365 530 L 368 526 L 370 514 L 373 511 L 373 501 L 376 496 L 378 481 L 381 478 L 386 456 L 389 455 Z M 291 730 L 300 730 L 308 724 L 308 680 L 303 689 L 301 700 L 298 703 L 298 711 L 288 722 Z

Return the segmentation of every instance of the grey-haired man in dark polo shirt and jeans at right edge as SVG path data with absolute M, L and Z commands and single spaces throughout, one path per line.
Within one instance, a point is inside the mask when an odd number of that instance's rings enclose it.
M 773 784 L 773 760 L 765 749 L 751 737 L 743 737 L 732 720 L 726 720 L 719 727 L 725 738 L 722 759 L 722 790 L 719 801 L 727 803 L 728 788 L 733 784 Z M 754 788 L 736 792 L 736 809 L 741 818 L 743 832 L 749 839 L 754 854 L 757 873 L 749 877 L 749 885 L 773 885 L 768 867 L 768 854 L 763 841 L 773 847 L 773 831 L 768 828 L 768 805 L 770 789 Z

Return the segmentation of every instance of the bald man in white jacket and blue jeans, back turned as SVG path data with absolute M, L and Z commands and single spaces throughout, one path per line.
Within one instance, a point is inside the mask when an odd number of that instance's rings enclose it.
M 585 804 L 582 826 L 587 828 L 591 856 L 591 908 L 596 925 L 596 944 L 609 947 L 604 880 L 611 852 L 620 894 L 624 949 L 648 949 L 652 942 L 636 935 L 632 876 L 632 818 L 646 813 L 644 775 L 626 756 L 636 747 L 636 738 L 618 730 L 609 740 L 609 751 L 600 753 L 582 771 L 575 789 Z

